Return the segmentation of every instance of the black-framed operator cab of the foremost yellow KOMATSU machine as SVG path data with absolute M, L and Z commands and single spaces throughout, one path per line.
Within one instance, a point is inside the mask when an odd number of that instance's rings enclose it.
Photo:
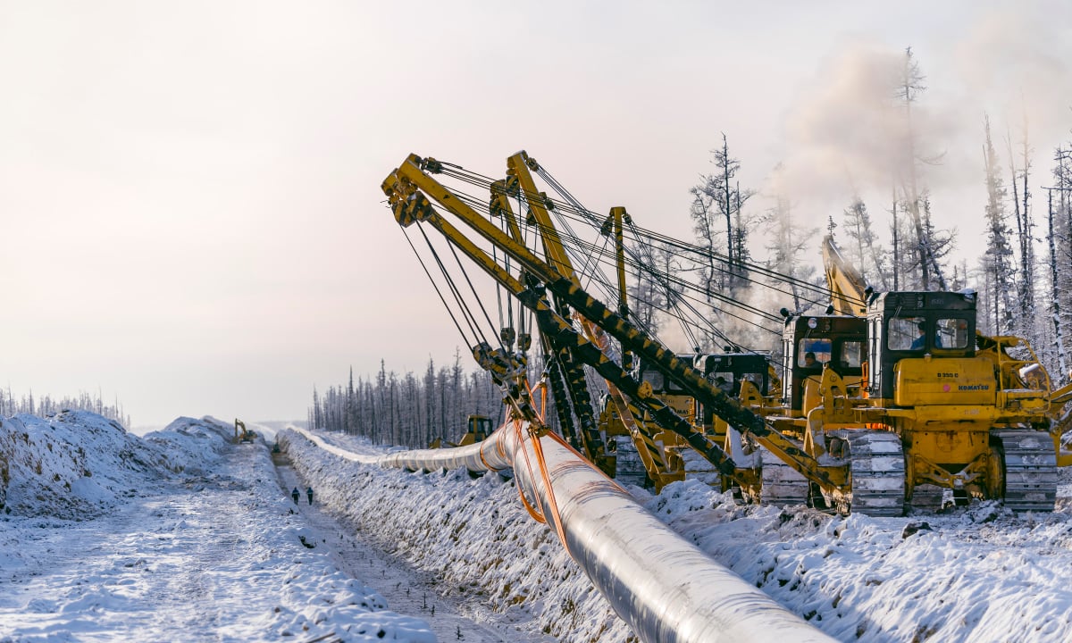
M 957 384 L 957 390 L 974 393 L 987 390 L 963 385 L 961 380 L 972 375 L 966 372 L 970 368 L 968 364 L 949 361 L 944 362 L 949 368 L 939 365 L 942 359 L 976 355 L 974 293 L 874 295 L 867 302 L 867 328 L 869 373 L 866 391 L 870 397 L 895 400 L 895 404 L 902 405 L 894 391 L 906 393 L 914 388 L 907 380 L 907 386 L 896 386 L 898 373 L 904 373 L 909 364 L 913 371 L 926 371 L 928 379 L 933 375 L 935 383 L 941 383 L 942 390 L 936 392 L 949 393 L 949 386 L 953 384 Z M 900 363 L 913 358 L 921 360 L 920 363 Z M 917 398 L 920 394 L 926 393 L 915 392 Z

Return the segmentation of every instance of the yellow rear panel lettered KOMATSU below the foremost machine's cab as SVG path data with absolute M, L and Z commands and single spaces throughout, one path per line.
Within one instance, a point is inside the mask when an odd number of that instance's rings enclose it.
M 991 405 L 994 362 L 981 358 L 903 359 L 894 369 L 897 406 Z

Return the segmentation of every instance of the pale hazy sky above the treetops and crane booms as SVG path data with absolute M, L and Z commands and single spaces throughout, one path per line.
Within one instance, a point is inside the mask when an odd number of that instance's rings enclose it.
M 1034 186 L 1072 138 L 1072 4 L 1019 4 L 0 0 L 0 386 L 101 391 L 134 425 L 303 419 L 351 365 L 450 361 L 382 205 L 410 152 L 498 176 L 525 149 L 687 237 L 725 132 L 757 211 L 780 162 L 813 225 L 850 184 L 884 222 L 867 78 L 907 46 L 973 265 L 983 113 L 1004 164 L 1028 114 Z

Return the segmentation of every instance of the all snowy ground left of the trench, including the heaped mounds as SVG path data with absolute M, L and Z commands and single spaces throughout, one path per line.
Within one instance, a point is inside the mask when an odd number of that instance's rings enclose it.
M 0 641 L 432 643 L 336 568 L 267 447 L 230 436 L 212 418 L 144 439 L 84 412 L 4 419 Z

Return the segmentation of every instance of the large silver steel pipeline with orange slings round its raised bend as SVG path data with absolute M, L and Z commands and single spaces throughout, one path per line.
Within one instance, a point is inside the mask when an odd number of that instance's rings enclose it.
M 408 470 L 513 469 L 563 545 L 645 643 L 834 641 L 718 565 L 553 433 L 508 422 L 455 449 L 376 459 Z M 526 502 L 526 505 L 528 503 Z

